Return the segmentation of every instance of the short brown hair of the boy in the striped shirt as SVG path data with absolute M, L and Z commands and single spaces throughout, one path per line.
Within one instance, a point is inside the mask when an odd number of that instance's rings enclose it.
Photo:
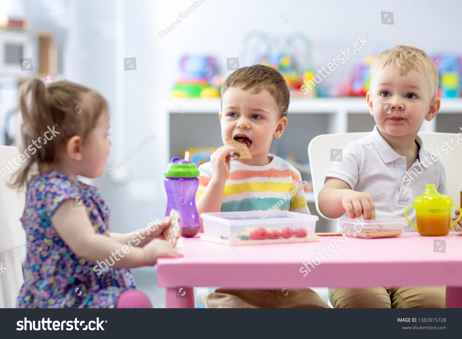
M 265 65 L 253 65 L 239 68 L 226 78 L 221 87 L 221 96 L 231 88 L 240 87 L 243 91 L 252 89 L 252 93 L 258 93 L 262 89 L 268 91 L 276 100 L 280 108 L 280 116 L 287 115 L 290 103 L 290 92 L 286 80 L 282 74 Z

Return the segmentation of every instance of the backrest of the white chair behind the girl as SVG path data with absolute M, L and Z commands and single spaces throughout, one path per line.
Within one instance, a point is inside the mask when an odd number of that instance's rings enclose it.
M 18 157 L 19 151 L 16 147 L 0 146 L 0 170 L 2 172 L 12 172 L 12 166 L 18 167 L 12 162 L 12 157 Z M 16 163 L 20 163 L 16 160 Z M 6 182 L 11 180 L 12 173 L 3 177 L 0 173 L 0 252 L 24 246 L 26 241 L 25 232 L 22 227 L 21 218 L 24 212 L 24 190 L 18 192 L 17 189 L 9 187 Z

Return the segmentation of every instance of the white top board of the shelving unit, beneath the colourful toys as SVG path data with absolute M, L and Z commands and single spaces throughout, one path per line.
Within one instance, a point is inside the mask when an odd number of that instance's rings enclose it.
M 170 105 L 170 113 L 218 113 L 220 98 L 172 98 L 178 106 Z M 369 113 L 365 97 L 328 97 L 328 98 L 293 98 L 289 106 L 289 114 L 307 113 Z M 462 98 L 441 99 L 439 113 L 462 113 Z

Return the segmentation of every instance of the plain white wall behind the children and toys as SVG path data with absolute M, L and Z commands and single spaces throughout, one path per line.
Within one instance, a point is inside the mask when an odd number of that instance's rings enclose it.
M 349 68 L 362 58 L 396 43 L 414 45 L 428 53 L 462 52 L 458 49 L 462 45 L 460 1 L 206 0 L 175 30 L 160 37 L 158 31 L 175 21 L 192 2 L 64 2 L 69 6 L 64 13 L 70 27 L 64 73 L 68 79 L 99 90 L 111 107 L 114 144 L 108 167 L 151 133 L 156 136 L 123 167 L 127 170 L 121 176 L 125 181 L 115 183 L 108 173 L 97 180 L 111 205 L 111 228 L 115 231 L 143 227 L 150 216 L 164 213 L 162 171 L 168 157 L 164 107 L 176 103 L 169 97 L 181 76 L 178 61 L 183 54 L 216 56 L 226 76 L 225 58 L 239 56 L 243 60 L 240 66 L 246 66 L 243 37 L 250 30 L 261 30 L 271 37 L 302 34 L 312 42 L 314 66 L 319 67 L 339 54 L 340 48 L 352 48 L 357 36 L 367 32 L 371 42 L 323 80 L 323 85 L 329 85 L 346 79 Z M 394 12 L 395 25 L 381 24 L 380 11 Z M 76 13 L 82 22 L 73 18 Z M 123 71 L 123 58 L 128 57 L 136 57 L 136 71 Z M 133 199 L 143 195 L 144 201 Z

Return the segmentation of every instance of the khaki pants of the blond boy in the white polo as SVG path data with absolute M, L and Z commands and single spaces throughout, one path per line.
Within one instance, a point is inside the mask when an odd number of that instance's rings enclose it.
M 389 288 L 329 288 L 336 309 L 444 309 L 444 286 Z

